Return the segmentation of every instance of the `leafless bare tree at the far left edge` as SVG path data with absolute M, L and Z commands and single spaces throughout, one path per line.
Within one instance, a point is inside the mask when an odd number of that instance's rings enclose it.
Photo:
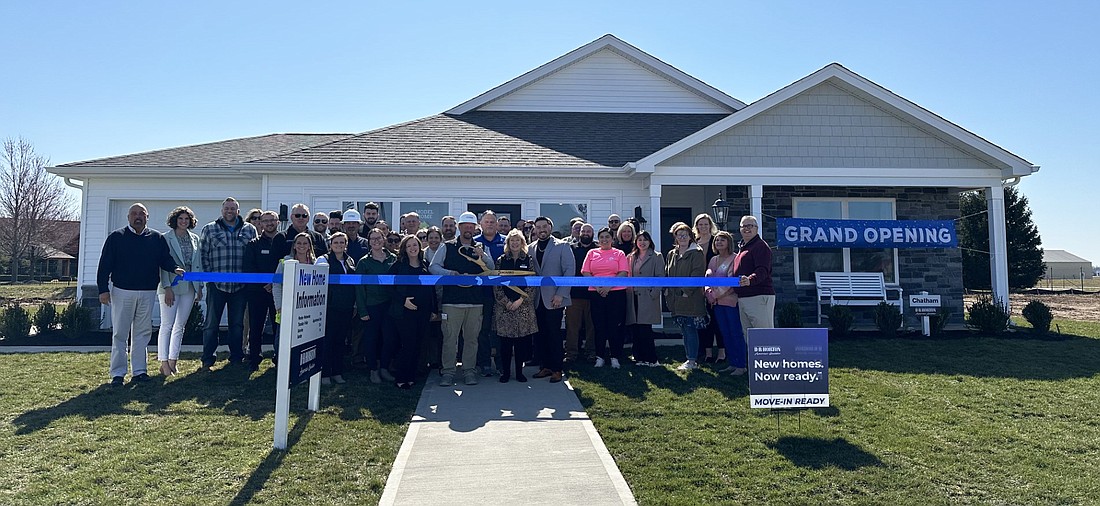
M 20 265 L 33 250 L 53 242 L 57 220 L 73 218 L 73 202 L 62 180 L 46 172 L 50 158 L 24 139 L 7 139 L 0 166 L 0 253 L 19 279 Z M 33 266 L 33 258 L 31 258 Z

